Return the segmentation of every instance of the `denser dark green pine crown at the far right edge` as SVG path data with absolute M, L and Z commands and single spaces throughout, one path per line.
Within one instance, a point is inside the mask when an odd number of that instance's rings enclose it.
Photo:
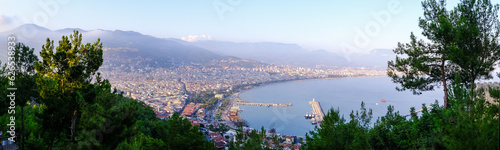
M 477 80 L 492 78 L 500 59 L 498 9 L 490 0 L 462 0 L 454 10 L 456 48 L 450 51 L 450 59 L 460 67 L 461 80 L 470 89 L 475 89 Z

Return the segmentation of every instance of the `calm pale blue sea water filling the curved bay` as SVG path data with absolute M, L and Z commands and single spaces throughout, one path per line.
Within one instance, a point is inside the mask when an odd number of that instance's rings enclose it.
M 495 79 L 498 81 L 498 78 Z M 411 91 L 399 92 L 398 86 L 389 77 L 339 78 L 293 81 L 257 87 L 240 94 L 240 98 L 249 102 L 292 103 L 291 107 L 240 106 L 240 114 L 251 128 L 262 126 L 269 130 L 275 128 L 278 133 L 304 136 L 314 129 L 314 125 L 304 118 L 312 107 L 308 101 L 314 98 L 320 102 L 325 114 L 330 108 L 339 109 L 346 119 L 352 110 L 359 110 L 361 102 L 373 110 L 373 121 L 385 115 L 387 106 L 393 105 L 396 111 L 406 115 L 410 107 L 421 109 L 438 100 L 443 104 L 442 89 L 413 95 Z M 386 99 L 386 102 L 381 102 Z

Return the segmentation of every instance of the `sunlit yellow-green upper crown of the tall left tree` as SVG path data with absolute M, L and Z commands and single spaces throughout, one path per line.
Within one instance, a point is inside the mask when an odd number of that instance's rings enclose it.
M 93 44 L 82 44 L 82 34 L 74 31 L 63 36 L 54 52 L 54 41 L 47 38 L 42 46 L 41 62 L 35 63 L 36 71 L 44 77 L 56 81 L 55 88 L 61 93 L 73 93 L 90 83 L 93 75 L 102 65 L 102 43 L 100 39 Z M 50 95 L 41 89 L 42 96 Z

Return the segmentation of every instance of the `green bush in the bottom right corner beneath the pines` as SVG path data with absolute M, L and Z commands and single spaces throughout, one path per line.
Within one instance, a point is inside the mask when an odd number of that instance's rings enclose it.
M 498 103 L 485 101 L 484 95 L 474 94 L 465 83 L 455 83 L 450 104 L 452 109 L 433 118 L 440 144 L 447 149 L 498 149 Z

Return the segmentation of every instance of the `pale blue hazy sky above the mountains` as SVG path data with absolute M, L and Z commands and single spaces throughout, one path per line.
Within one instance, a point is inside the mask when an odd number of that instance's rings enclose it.
M 493 1 L 499 3 L 499 0 Z M 133 30 L 160 38 L 295 43 L 307 49 L 392 49 L 420 33 L 418 0 L 0 0 L 0 31 Z M 448 6 L 457 3 L 449 1 Z M 417 35 L 418 35 L 417 34 Z M 204 35 L 204 36 L 203 36 Z

